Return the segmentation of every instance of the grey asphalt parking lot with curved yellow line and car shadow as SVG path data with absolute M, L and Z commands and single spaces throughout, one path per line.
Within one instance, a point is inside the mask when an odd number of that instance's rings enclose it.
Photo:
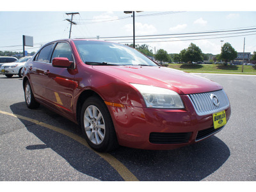
M 119 147 L 100 154 L 79 127 L 44 106 L 26 107 L 22 79 L 0 76 L 0 180 L 255 181 L 256 76 L 197 74 L 223 85 L 225 128 L 175 150 Z

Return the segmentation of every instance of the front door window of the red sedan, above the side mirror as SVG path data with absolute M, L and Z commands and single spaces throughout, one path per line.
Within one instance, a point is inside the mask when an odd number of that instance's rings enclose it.
M 60 42 L 56 45 L 52 54 L 52 59 L 53 58 L 68 58 L 69 61 L 74 61 L 70 46 L 64 42 Z

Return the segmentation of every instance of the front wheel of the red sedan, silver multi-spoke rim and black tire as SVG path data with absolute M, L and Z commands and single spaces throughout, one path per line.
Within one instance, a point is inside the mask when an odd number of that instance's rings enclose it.
M 87 143 L 99 152 L 118 147 L 115 128 L 108 108 L 99 97 L 89 97 L 81 110 L 81 128 Z

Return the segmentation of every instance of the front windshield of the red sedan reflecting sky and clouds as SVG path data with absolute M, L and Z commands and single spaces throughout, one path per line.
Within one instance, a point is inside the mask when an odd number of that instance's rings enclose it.
M 81 59 L 88 65 L 157 66 L 152 60 L 126 45 L 111 42 L 75 40 Z

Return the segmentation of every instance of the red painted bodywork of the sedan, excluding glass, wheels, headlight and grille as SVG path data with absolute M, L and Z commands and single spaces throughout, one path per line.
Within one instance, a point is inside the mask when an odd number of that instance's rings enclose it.
M 107 104 L 119 145 L 132 148 L 159 150 L 182 147 L 195 143 L 198 131 L 213 126 L 212 114 L 197 115 L 188 95 L 221 90 L 223 88 L 220 84 L 159 66 L 86 65 L 79 56 L 74 41 L 76 40 L 60 40 L 70 45 L 75 68 L 42 64 L 34 61 L 36 54 L 28 63 L 24 81 L 29 81 L 38 102 L 79 123 L 77 116 L 81 95 L 88 90 L 95 92 Z M 184 109 L 147 108 L 141 93 L 131 83 L 173 90 L 179 93 Z M 225 112 L 228 121 L 230 105 L 225 108 Z M 149 140 L 152 132 L 189 132 L 189 139 L 186 143 L 156 144 Z

